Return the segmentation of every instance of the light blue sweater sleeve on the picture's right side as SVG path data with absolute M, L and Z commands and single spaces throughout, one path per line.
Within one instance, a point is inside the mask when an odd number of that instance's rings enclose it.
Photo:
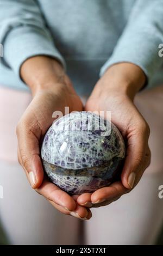
M 147 76 L 147 81 L 151 80 L 163 63 L 163 58 L 158 54 L 161 42 L 163 42 L 163 1 L 136 0 L 127 25 L 111 57 L 102 66 L 100 76 L 111 65 L 130 62 L 140 66 Z

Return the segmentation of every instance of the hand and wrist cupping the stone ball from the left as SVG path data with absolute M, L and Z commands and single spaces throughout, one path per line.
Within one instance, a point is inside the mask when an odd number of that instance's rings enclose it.
M 43 176 L 39 148 L 54 121 L 53 112 L 64 114 L 65 106 L 70 108 L 70 112 L 82 111 L 82 102 L 70 79 L 54 59 L 43 56 L 28 59 L 22 65 L 21 76 L 32 90 L 33 100 L 17 125 L 18 160 L 30 185 L 55 208 L 67 215 L 89 219 L 90 210 L 79 206 L 73 197 Z

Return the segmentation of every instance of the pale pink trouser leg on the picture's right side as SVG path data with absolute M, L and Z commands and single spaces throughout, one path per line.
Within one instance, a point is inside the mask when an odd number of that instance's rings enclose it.
M 93 209 L 85 224 L 86 243 L 92 245 L 153 245 L 163 221 L 163 87 L 138 94 L 135 103 L 151 127 L 151 165 L 132 192 L 104 208 Z M 95 234 L 95 235 L 94 235 Z

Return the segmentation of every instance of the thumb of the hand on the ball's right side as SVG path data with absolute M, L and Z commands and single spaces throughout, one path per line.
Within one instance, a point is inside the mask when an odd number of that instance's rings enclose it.
M 128 132 L 126 159 L 121 174 L 122 184 L 126 188 L 133 188 L 139 171 L 143 173 L 143 162 L 148 145 L 149 129 L 146 123 L 139 129 Z

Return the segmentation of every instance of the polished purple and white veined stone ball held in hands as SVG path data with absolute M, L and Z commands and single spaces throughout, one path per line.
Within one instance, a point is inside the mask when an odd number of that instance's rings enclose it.
M 109 120 L 91 112 L 72 112 L 49 128 L 41 157 L 55 185 L 70 194 L 82 194 L 120 179 L 125 146 Z

